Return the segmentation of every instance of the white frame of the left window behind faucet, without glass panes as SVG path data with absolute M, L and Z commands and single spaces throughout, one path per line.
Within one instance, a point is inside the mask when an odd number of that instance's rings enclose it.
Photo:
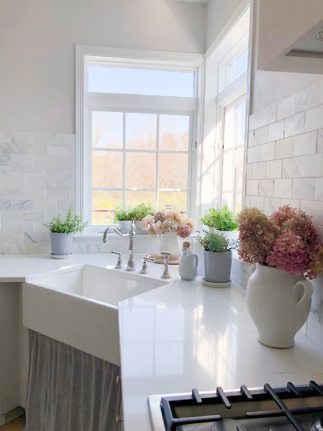
M 156 70 L 190 71 L 195 74 L 195 97 L 146 96 L 140 94 L 111 94 L 87 92 L 88 66 L 115 66 Z M 76 45 L 76 160 L 75 160 L 75 211 L 91 218 L 91 124 L 93 110 L 146 112 L 190 116 L 192 130 L 188 167 L 187 214 L 197 222 L 197 194 L 199 178 L 200 143 L 202 141 L 201 107 L 203 97 L 204 55 L 167 53 L 159 51 L 127 50 L 123 48 L 88 47 Z M 103 226 L 93 226 L 85 233 L 97 232 Z

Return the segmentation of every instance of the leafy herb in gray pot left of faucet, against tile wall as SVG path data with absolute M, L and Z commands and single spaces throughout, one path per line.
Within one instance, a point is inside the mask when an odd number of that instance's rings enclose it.
M 73 247 L 73 234 L 81 232 L 87 226 L 87 222 L 83 223 L 83 216 L 74 215 L 71 204 L 68 207 L 65 222 L 61 215 L 54 217 L 50 223 L 45 226 L 50 228 L 50 242 L 52 245 L 53 256 L 70 256 Z

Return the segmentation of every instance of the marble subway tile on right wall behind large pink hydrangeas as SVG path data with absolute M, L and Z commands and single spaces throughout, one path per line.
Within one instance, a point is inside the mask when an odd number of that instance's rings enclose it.
M 323 81 L 249 117 L 246 172 L 246 206 L 300 208 L 323 241 Z M 312 284 L 306 335 L 323 346 L 323 275 Z

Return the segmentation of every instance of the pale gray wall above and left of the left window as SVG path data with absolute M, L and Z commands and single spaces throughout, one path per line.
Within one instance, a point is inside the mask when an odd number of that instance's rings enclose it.
M 1 0 L 0 131 L 75 132 L 75 44 L 205 52 L 206 5 Z

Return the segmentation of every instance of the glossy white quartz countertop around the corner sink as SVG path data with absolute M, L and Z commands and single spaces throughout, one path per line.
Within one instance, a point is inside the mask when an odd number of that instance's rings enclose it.
M 136 254 L 137 274 L 142 257 Z M 104 253 L 66 260 L 1 255 L 0 281 L 31 281 L 43 272 L 83 264 L 112 269 L 116 259 Z M 122 259 L 126 264 L 127 253 Z M 160 278 L 163 266 L 148 266 L 151 273 L 143 277 Z M 205 287 L 201 277 L 183 281 L 177 265 L 169 269 L 169 284 L 119 303 L 125 431 L 151 431 L 147 398 L 153 394 L 323 382 L 323 349 L 301 331 L 289 349 L 258 342 L 239 284 Z

